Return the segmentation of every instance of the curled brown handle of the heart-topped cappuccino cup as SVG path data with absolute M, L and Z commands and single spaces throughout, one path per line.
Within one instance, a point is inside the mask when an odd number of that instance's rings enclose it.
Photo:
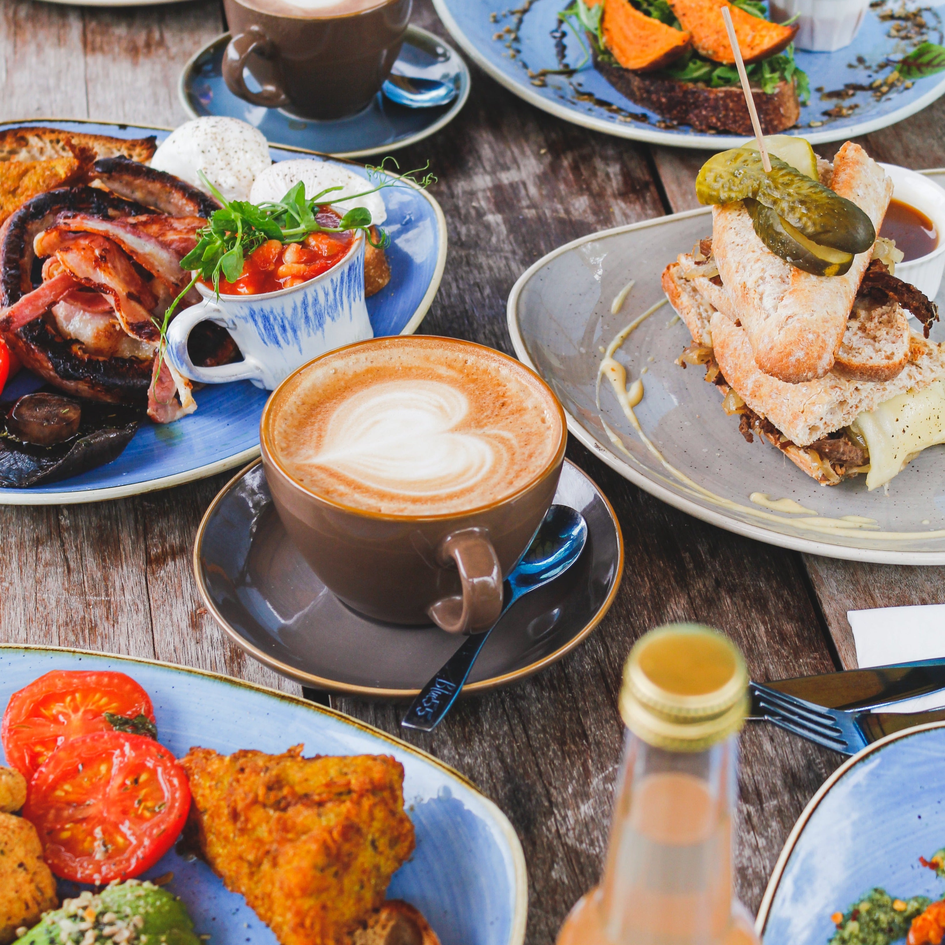
M 463 528 L 439 542 L 441 565 L 455 564 L 462 594 L 442 597 L 427 608 L 430 619 L 447 633 L 488 629 L 502 613 L 502 568 L 484 528 Z

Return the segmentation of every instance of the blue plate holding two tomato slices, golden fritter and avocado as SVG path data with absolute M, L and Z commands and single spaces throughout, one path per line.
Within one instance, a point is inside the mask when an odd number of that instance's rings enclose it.
M 490 799 L 430 755 L 295 696 L 181 666 L 76 650 L 0 646 L 0 707 L 51 669 L 112 669 L 137 679 L 154 703 L 163 745 L 178 757 L 192 746 L 276 753 L 299 743 L 306 757 L 393 755 L 404 765 L 404 804 L 417 849 L 394 874 L 388 898 L 420 909 L 442 945 L 523 942 L 528 892 L 519 839 Z M 228 892 L 206 864 L 171 851 L 145 878 L 167 872 L 174 874 L 168 888 L 214 945 L 277 945 L 243 897 Z M 60 884 L 61 894 L 75 891 Z

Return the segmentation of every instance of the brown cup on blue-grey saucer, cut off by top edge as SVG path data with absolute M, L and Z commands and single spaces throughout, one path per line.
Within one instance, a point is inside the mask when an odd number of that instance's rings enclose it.
M 253 105 L 303 118 L 366 108 L 400 55 L 412 0 L 223 0 L 223 78 Z M 250 91 L 245 71 L 260 85 Z

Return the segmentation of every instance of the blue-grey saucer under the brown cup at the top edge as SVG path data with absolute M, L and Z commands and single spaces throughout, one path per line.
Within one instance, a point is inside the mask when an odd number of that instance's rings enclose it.
M 252 105 L 232 94 L 223 81 L 223 51 L 230 42 L 224 33 L 207 43 L 183 67 L 178 82 L 180 104 L 192 117 L 227 115 L 249 122 L 272 144 L 304 147 L 335 158 L 366 158 L 413 145 L 449 124 L 470 94 L 470 71 L 449 44 L 420 26 L 407 26 L 401 55 L 394 72 L 413 75 L 422 70 L 429 77 L 450 77 L 458 94 L 447 105 L 408 109 L 380 92 L 363 112 L 335 121 L 300 118 L 282 109 Z M 249 79 L 252 88 L 252 79 Z M 407 168 L 404 168 L 406 170 Z

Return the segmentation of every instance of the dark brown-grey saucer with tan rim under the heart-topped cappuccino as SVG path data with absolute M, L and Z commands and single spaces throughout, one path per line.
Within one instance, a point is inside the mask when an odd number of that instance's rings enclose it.
M 558 662 L 610 609 L 624 541 L 610 503 L 565 460 L 555 502 L 578 509 L 588 542 L 576 564 L 508 611 L 464 694 L 504 686 Z M 257 460 L 216 496 L 198 528 L 194 572 L 233 643 L 303 685 L 371 698 L 412 698 L 461 643 L 438 627 L 397 627 L 345 607 L 289 540 Z

